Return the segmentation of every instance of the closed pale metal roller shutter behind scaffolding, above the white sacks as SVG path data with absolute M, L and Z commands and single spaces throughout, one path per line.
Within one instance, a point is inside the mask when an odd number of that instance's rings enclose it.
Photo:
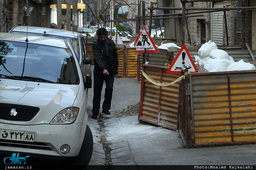
M 216 2 L 214 8 L 223 8 L 223 3 Z M 212 42 L 223 45 L 223 11 L 212 12 Z

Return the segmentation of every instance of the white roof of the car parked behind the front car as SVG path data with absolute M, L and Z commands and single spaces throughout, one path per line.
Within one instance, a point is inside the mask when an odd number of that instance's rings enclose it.
M 53 28 L 45 28 L 45 27 L 36 27 L 36 26 L 15 26 L 12 28 L 10 32 L 33 32 L 33 33 L 41 33 L 41 34 L 50 34 L 50 35 L 57 35 L 57 36 L 65 36 L 68 38 L 74 37 L 83 37 L 81 33 L 66 31 L 66 30 L 59 30 Z

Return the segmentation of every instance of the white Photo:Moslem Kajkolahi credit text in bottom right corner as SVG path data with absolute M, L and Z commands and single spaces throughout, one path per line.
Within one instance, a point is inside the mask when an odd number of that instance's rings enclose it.
M 194 169 L 227 169 L 227 170 L 244 170 L 254 169 L 255 165 L 208 165 L 208 166 L 194 166 Z

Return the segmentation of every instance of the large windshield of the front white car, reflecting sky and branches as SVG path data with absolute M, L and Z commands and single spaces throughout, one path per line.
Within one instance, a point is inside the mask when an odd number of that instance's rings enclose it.
M 79 82 L 69 49 L 14 41 L 0 41 L 0 77 L 59 84 Z

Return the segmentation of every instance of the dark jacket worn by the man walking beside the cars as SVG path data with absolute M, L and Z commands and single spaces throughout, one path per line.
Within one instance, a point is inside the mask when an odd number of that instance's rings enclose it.
M 109 38 L 107 39 L 108 39 L 108 56 L 112 57 L 115 60 L 116 62 L 115 67 L 116 67 L 116 70 L 118 70 L 118 57 L 117 57 L 116 45 L 112 39 L 109 39 Z M 102 56 L 107 55 L 106 47 L 102 42 L 100 42 L 100 39 L 98 38 L 96 41 L 92 43 L 92 51 L 94 55 L 93 62 L 95 67 L 98 67 L 103 71 L 106 68 L 104 67 L 104 64 L 101 60 L 100 48 L 102 51 Z

